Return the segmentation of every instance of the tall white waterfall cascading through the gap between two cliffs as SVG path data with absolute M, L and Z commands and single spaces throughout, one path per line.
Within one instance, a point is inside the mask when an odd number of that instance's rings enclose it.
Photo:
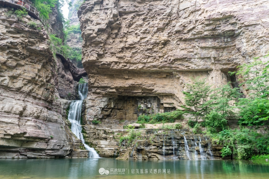
M 85 148 L 89 150 L 89 158 L 100 158 L 98 153 L 87 144 L 85 144 L 85 140 L 83 139 L 82 135 L 82 127 L 80 124 L 81 118 L 81 108 L 82 102 L 87 97 L 88 93 L 88 83 L 79 84 L 78 86 L 78 94 L 80 95 L 80 100 L 75 100 L 70 104 L 69 113 L 68 113 L 68 120 L 71 122 L 71 131 L 77 136 L 78 139 L 82 141 Z

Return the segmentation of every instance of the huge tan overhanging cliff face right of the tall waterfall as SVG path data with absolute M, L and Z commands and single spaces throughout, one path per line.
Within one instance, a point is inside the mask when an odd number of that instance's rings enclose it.
M 192 78 L 215 87 L 231 81 L 228 71 L 268 52 L 268 14 L 265 0 L 86 1 L 78 15 L 87 123 L 121 128 L 121 116 L 133 121 L 139 105 L 180 108 Z

